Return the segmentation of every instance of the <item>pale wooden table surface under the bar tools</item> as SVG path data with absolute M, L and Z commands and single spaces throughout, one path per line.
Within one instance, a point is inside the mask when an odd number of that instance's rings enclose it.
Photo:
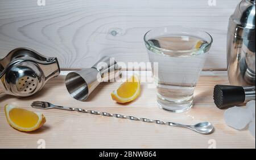
M 217 109 L 213 103 L 213 87 L 216 84 L 228 84 L 227 77 L 201 76 L 196 87 L 195 105 L 191 110 L 177 114 L 158 108 L 156 89 L 149 82 L 142 83 L 141 96 L 136 101 L 119 105 L 110 97 L 119 83 L 103 83 L 87 102 L 79 102 L 69 96 L 64 76 L 59 76 L 32 97 L 0 97 L 0 148 L 38 148 L 44 142 L 46 148 L 255 148 L 255 139 L 247 129 L 237 131 L 226 126 L 224 110 Z M 30 107 L 35 100 L 185 124 L 208 121 L 213 123 L 216 131 L 212 135 L 200 135 L 188 129 L 129 122 L 126 119 L 60 110 L 36 110 Z M 6 103 L 41 112 L 47 122 L 32 133 L 16 131 L 6 122 Z

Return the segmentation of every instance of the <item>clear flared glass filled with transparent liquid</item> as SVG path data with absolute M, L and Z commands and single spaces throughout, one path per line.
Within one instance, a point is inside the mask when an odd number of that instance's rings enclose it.
M 193 106 L 194 90 L 212 42 L 209 33 L 188 27 L 156 28 L 144 35 L 159 107 L 180 113 Z

